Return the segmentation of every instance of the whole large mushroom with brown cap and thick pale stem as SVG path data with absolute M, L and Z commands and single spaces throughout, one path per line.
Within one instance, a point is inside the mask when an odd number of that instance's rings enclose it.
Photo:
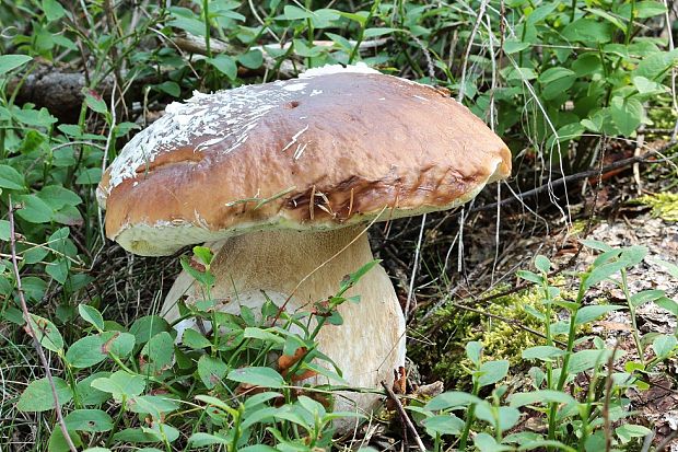
M 326 66 L 168 105 L 122 149 L 97 195 L 108 237 L 132 253 L 209 242 L 211 294 L 224 310 L 292 295 L 285 309 L 295 311 L 373 260 L 365 223 L 459 206 L 510 172 L 503 141 L 443 90 L 365 65 Z M 182 274 L 163 308 L 168 321 L 185 294 L 200 291 Z M 348 294 L 360 302 L 339 306 L 343 324 L 322 329 L 319 350 L 353 386 L 390 384 L 405 364 L 394 287 L 376 266 Z M 378 402 L 347 397 L 338 408 Z

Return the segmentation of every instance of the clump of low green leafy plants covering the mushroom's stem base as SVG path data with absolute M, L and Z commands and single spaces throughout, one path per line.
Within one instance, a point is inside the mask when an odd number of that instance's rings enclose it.
M 211 257 L 197 246 L 192 260 L 182 260 L 208 295 Z M 341 372 L 314 339 L 326 323 L 341 324 L 337 306 L 348 301 L 343 293 L 375 264 L 347 276 L 313 314 L 288 314 L 269 302 L 259 313 L 243 308 L 236 316 L 217 311 L 210 298 L 183 306 L 184 318 L 208 325 L 212 334 L 186 329 L 180 340 L 162 317 L 140 317 L 126 329 L 81 304 L 83 337 L 67 345 L 49 320 L 34 315 L 39 343 L 63 366 L 55 384 L 73 443 L 148 443 L 167 451 L 207 445 L 235 451 L 261 443 L 299 451 L 328 448 L 332 421 L 359 415 L 331 413 L 332 384 L 343 383 Z M 334 383 L 306 382 L 320 375 Z M 54 408 L 46 379 L 31 382 L 17 403 L 23 412 Z M 52 452 L 68 450 L 58 428 L 49 444 Z

